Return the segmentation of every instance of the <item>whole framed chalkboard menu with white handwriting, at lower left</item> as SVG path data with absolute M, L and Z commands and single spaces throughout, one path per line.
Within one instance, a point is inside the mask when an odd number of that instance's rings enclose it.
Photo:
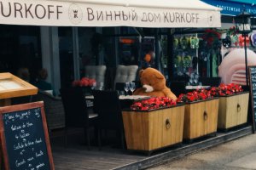
M 44 103 L 0 107 L 5 169 L 54 169 Z

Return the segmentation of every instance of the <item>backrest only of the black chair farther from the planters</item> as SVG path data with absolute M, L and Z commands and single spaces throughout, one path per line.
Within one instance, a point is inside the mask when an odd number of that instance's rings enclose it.
M 81 88 L 60 89 L 67 127 L 88 127 L 89 116 Z

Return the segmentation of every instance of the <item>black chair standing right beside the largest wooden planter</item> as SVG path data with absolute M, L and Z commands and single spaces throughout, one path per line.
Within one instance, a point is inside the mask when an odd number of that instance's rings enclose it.
M 117 91 L 92 92 L 94 96 L 94 107 L 98 114 L 97 130 L 99 149 L 102 149 L 102 130 L 116 130 L 120 135 L 122 149 L 125 149 L 125 135 L 122 119 L 121 105 Z

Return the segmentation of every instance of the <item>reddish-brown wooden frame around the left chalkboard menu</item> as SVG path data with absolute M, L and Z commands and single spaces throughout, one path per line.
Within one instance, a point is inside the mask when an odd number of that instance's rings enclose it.
M 33 102 L 33 103 L 27 103 L 23 105 L 10 105 L 10 106 L 4 106 L 0 107 L 0 143 L 1 143 L 1 149 L 2 149 L 2 156 L 3 156 L 3 167 L 5 169 L 10 169 L 10 162 L 9 162 L 9 151 L 8 150 L 7 144 L 6 144 L 6 138 L 5 138 L 5 133 L 4 133 L 4 125 L 3 125 L 3 116 L 4 114 L 8 114 L 11 112 L 18 112 L 18 111 L 26 111 L 26 110 L 31 110 L 31 109 L 40 109 L 40 115 L 42 118 L 42 124 L 43 124 L 43 131 L 44 132 L 37 132 L 37 133 L 44 133 L 44 142 L 47 150 L 47 157 L 49 162 L 49 169 L 54 170 L 54 162 L 53 162 L 53 156 L 50 148 L 50 143 L 49 143 L 49 133 L 48 133 L 48 128 L 47 128 L 47 123 L 46 123 L 46 117 L 44 113 L 44 102 L 39 101 L 39 102 Z

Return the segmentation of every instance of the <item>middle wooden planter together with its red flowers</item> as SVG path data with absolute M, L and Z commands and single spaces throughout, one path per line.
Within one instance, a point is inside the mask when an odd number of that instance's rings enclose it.
M 180 94 L 177 103 L 185 103 L 183 139 L 192 141 L 217 132 L 218 98 L 206 89 Z

